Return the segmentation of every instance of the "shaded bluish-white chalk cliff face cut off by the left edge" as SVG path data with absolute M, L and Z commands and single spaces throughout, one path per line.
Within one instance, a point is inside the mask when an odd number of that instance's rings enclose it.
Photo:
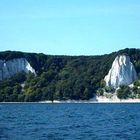
M 0 80 L 9 78 L 22 71 L 26 73 L 30 71 L 35 74 L 35 70 L 25 58 L 12 59 L 9 61 L 0 60 Z

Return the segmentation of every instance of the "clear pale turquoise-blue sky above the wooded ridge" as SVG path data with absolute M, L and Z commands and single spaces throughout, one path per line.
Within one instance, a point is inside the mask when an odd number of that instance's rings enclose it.
M 0 51 L 101 55 L 140 48 L 139 0 L 0 0 Z

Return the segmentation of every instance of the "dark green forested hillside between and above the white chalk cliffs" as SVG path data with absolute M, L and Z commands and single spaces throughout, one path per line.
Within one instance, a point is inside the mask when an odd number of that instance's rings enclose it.
M 104 77 L 119 54 L 128 54 L 140 73 L 140 50 L 124 49 L 101 56 L 53 56 L 6 51 L 0 59 L 26 58 L 36 75 L 24 72 L 0 81 L 0 101 L 87 100 L 104 87 Z

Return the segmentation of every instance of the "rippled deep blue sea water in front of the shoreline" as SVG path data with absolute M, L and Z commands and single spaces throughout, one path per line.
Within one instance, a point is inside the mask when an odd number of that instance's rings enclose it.
M 140 104 L 0 104 L 0 140 L 140 140 Z

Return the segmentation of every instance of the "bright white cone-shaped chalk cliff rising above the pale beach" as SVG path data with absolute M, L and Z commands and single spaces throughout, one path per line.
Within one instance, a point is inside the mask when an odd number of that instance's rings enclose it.
M 134 65 L 129 56 L 117 56 L 104 80 L 106 86 L 118 88 L 120 85 L 129 85 L 137 78 Z

